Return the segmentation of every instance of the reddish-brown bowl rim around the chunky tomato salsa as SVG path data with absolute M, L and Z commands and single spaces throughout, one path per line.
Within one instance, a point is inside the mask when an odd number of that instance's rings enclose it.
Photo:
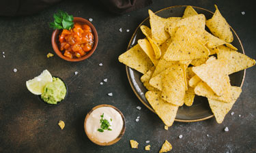
M 89 58 L 89 56 L 91 56 L 91 54 L 94 53 L 94 51 L 96 50 L 97 45 L 98 45 L 98 33 L 97 33 L 94 25 L 91 24 L 91 22 L 89 22 L 88 20 L 86 20 L 84 18 L 79 18 L 79 17 L 74 17 L 74 22 L 85 23 L 85 24 L 89 25 L 89 27 L 91 27 L 92 34 L 94 35 L 94 46 L 91 48 L 91 50 L 89 52 L 87 52 L 87 54 L 85 54 L 85 56 L 82 56 L 81 58 L 68 58 L 68 57 L 64 56 L 63 53 L 59 50 L 58 37 L 59 37 L 60 31 L 59 30 L 53 31 L 53 35 L 52 35 L 52 39 L 51 39 L 52 45 L 53 45 L 53 50 L 60 58 L 66 60 L 66 61 L 70 61 L 70 62 L 83 61 L 86 58 Z

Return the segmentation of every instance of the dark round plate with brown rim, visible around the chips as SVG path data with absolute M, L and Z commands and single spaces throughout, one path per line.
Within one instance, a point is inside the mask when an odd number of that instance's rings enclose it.
M 167 7 L 165 9 L 162 9 L 156 12 L 156 15 L 162 18 L 182 17 L 185 8 L 186 8 L 186 5 Z M 193 7 L 193 8 L 197 11 L 198 14 L 204 14 L 206 19 L 212 18 L 213 12 L 205 10 L 201 7 Z M 143 22 L 139 24 L 139 27 L 141 27 L 141 25 L 146 25 L 147 27 L 150 27 L 150 18 L 147 17 L 145 20 L 143 20 Z M 132 35 L 132 39 L 130 39 L 127 50 L 132 48 L 132 46 L 136 45 L 138 39 L 145 38 L 145 36 L 143 35 L 139 27 L 137 27 L 134 34 Z M 238 35 L 236 35 L 236 32 L 233 31 L 232 28 L 231 28 L 231 31 L 233 33 L 232 45 L 238 48 L 238 52 L 241 52 L 244 54 L 244 48 L 242 46 L 242 43 Z M 154 109 L 152 109 L 150 103 L 148 103 L 147 99 L 145 99 L 145 92 L 147 92 L 147 89 L 143 86 L 143 83 L 141 82 L 142 74 L 134 69 L 131 69 L 128 66 L 126 66 L 126 73 L 128 76 L 128 80 L 130 82 L 130 86 L 132 87 L 132 90 L 134 91 L 135 95 L 139 98 L 141 103 L 143 103 L 148 109 L 154 112 Z M 238 71 L 236 73 L 229 75 L 231 85 L 242 87 L 242 84 L 244 82 L 244 76 L 245 76 L 245 70 Z M 208 99 L 205 97 L 199 97 L 196 95 L 192 106 L 188 107 L 186 105 L 183 105 L 178 109 L 175 121 L 197 122 L 200 120 L 206 120 L 208 118 L 212 118 L 213 116 L 214 115 L 212 114 L 212 111 L 208 104 Z

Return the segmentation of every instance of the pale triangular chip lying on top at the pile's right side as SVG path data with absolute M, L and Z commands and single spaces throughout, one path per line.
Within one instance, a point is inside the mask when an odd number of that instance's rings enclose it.
M 213 59 L 213 58 L 211 58 Z M 213 60 L 203 65 L 193 67 L 193 72 L 218 96 L 230 91 L 231 85 L 227 75 L 226 63 L 223 60 Z

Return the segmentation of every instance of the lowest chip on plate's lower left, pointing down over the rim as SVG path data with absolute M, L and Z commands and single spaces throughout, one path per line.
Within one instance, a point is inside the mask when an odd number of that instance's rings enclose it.
M 167 103 L 160 98 L 160 92 L 147 91 L 145 94 L 147 101 L 153 107 L 154 111 L 167 126 L 174 122 L 179 106 Z

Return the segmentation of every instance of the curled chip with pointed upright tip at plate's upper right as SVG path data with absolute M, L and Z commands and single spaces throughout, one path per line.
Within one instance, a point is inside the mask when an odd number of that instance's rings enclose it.
M 213 35 L 223 39 L 224 41 L 231 43 L 233 41 L 233 34 L 230 30 L 229 24 L 219 12 L 217 5 L 214 15 L 209 20 L 206 20 L 206 26 L 210 29 Z

